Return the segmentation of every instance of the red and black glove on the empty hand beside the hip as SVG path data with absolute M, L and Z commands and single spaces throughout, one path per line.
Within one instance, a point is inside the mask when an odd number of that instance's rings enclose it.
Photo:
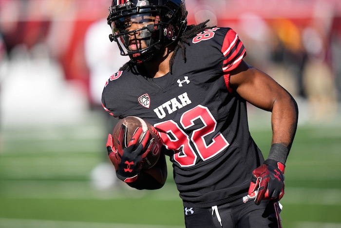
M 255 204 L 262 200 L 277 202 L 284 195 L 284 165 L 267 159 L 252 172 L 249 195 L 256 195 Z

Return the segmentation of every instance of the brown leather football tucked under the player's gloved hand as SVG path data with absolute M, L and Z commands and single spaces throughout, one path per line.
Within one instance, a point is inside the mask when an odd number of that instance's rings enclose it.
M 124 124 L 127 127 L 127 142 L 129 142 L 135 133 L 137 127 L 142 127 L 143 132 L 149 131 L 150 136 L 148 142 L 152 141 L 152 150 L 148 153 L 148 155 L 144 158 L 142 169 L 149 169 L 156 164 L 159 160 L 162 140 L 160 138 L 157 130 L 152 126 L 152 124 L 144 121 L 143 119 L 136 116 L 128 116 L 121 119 L 114 127 L 113 131 L 113 143 L 114 147 L 117 148 L 118 145 L 118 136 L 120 132 L 121 125 Z M 143 134 L 141 134 L 138 142 L 141 142 Z

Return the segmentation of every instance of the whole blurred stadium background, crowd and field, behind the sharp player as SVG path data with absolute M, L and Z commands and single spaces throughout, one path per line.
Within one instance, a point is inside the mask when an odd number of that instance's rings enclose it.
M 187 0 L 189 24 L 232 27 L 247 62 L 296 98 L 285 228 L 341 228 L 341 2 Z M 111 0 L 0 0 L 0 228 L 180 228 L 169 178 L 137 191 L 106 160 L 105 81 L 127 59 L 109 41 Z M 269 149 L 270 115 L 249 106 Z M 109 127 L 108 127 L 109 126 Z

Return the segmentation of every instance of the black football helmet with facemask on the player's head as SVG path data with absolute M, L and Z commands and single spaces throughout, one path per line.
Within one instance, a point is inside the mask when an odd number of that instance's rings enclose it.
M 186 29 L 186 4 L 185 0 L 113 0 L 107 20 L 113 31 L 109 39 L 117 42 L 121 55 L 128 55 L 133 62 L 146 62 Z M 133 23 L 143 26 L 128 31 Z M 138 38 L 136 32 L 141 34 Z M 135 43 L 143 40 L 147 47 L 129 50 L 129 37 L 134 37 Z

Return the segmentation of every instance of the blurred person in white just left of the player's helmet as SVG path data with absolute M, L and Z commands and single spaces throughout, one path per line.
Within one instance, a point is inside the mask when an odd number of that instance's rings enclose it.
M 89 68 L 89 89 L 92 109 L 103 114 L 101 104 L 102 91 L 107 75 L 117 71 L 129 57 L 121 56 L 117 46 L 112 45 L 108 39 L 108 27 L 105 19 L 93 22 L 85 33 L 84 54 Z M 105 113 L 104 113 L 105 114 Z M 105 134 L 112 132 L 117 120 L 103 115 Z M 100 148 L 98 148 L 100 149 Z M 101 154 L 102 155 L 102 154 Z M 115 185 L 116 177 L 113 175 L 113 166 L 108 163 L 108 157 L 103 156 L 102 162 L 96 166 L 91 174 L 94 187 L 107 189 Z

